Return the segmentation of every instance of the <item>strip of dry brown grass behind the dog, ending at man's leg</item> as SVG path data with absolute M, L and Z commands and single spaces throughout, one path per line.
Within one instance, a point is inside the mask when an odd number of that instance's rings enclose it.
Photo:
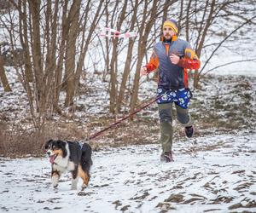
M 92 130 L 81 128 L 79 123 L 47 122 L 44 126 L 44 131 L 38 133 L 35 130 L 24 130 L 21 127 L 12 126 L 8 128 L 7 124 L 2 124 L 0 129 L 0 156 L 2 157 L 24 157 L 35 156 L 39 157 L 44 154 L 45 141 L 53 139 L 84 141 L 89 135 L 92 135 L 99 130 L 103 130 L 110 124 L 106 122 L 102 124 L 99 119 L 94 120 Z M 111 120 L 111 118 L 109 118 Z M 107 124 L 108 123 L 108 124 Z M 89 122 L 91 125 L 91 123 Z M 1 125 L 1 124 L 0 124 Z M 9 130 L 8 130 L 9 129 Z M 89 141 L 90 146 L 94 151 L 100 150 L 102 147 L 122 147 L 135 144 L 156 143 L 158 141 L 158 125 L 155 120 L 144 122 L 143 119 L 136 119 L 134 122 L 126 122 L 119 124 L 112 129 L 102 133 L 95 139 Z

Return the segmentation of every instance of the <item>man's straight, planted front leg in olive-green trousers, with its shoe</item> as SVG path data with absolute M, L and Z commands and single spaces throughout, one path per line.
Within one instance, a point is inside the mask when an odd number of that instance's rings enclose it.
M 160 143 L 163 153 L 161 160 L 170 162 L 172 159 L 172 103 L 159 104 Z

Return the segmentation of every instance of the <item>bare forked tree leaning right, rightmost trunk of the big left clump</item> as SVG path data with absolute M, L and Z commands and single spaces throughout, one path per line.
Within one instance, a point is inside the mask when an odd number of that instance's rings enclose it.
M 89 26 L 88 18 L 90 15 L 90 9 L 92 7 L 92 2 L 89 0 L 86 3 L 83 15 L 79 20 L 79 9 L 81 6 L 81 1 L 74 1 L 73 6 L 71 7 L 68 17 L 67 25 L 69 31 L 67 33 L 67 51 L 66 51 L 66 82 L 67 82 L 67 96 L 65 101 L 65 106 L 73 106 L 73 97 L 75 95 L 76 89 L 78 89 L 79 78 L 82 73 L 84 58 L 88 51 L 89 44 L 93 35 L 93 32 L 96 29 L 97 23 L 102 16 L 102 3 L 103 0 L 99 2 L 96 7 L 96 13 L 94 14 L 92 23 L 90 23 L 90 30 L 87 36 L 85 32 L 88 32 L 87 27 Z M 84 19 L 85 18 L 85 19 Z M 80 37 L 79 33 L 82 33 Z M 81 41 L 81 45 L 78 45 L 78 41 Z M 77 52 L 79 51 L 79 57 L 76 59 Z M 78 61 L 76 63 L 76 61 Z

